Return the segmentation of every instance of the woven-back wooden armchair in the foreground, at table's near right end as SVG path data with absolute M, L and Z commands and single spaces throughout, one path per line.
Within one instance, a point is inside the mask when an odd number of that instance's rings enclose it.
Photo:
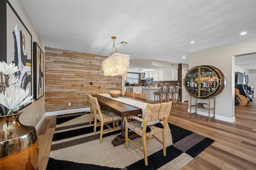
M 157 103 L 157 104 L 147 104 L 144 118 L 131 116 L 134 121 L 128 122 L 125 118 L 125 148 L 128 148 L 128 142 L 132 143 L 136 148 L 144 153 L 144 162 L 145 165 L 148 165 L 148 155 L 147 155 L 147 147 L 146 142 L 148 140 L 156 139 L 163 145 L 163 154 L 166 156 L 166 124 L 168 120 L 168 116 L 170 114 L 172 107 L 172 101 L 166 103 Z M 160 123 L 155 125 L 148 125 L 149 121 L 155 121 L 158 119 L 164 119 Z M 142 127 L 143 123 L 143 127 Z M 142 137 L 142 140 L 139 142 L 133 142 L 128 138 L 128 129 L 132 130 L 136 134 Z M 162 140 L 157 138 L 155 134 L 162 132 Z M 138 144 L 141 144 L 139 146 Z

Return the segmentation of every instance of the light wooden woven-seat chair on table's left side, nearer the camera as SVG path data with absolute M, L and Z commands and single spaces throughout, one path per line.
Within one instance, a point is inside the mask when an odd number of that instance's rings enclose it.
M 103 134 L 121 129 L 121 127 L 115 127 L 115 122 L 121 120 L 122 118 L 111 111 L 102 112 L 96 97 L 90 96 L 90 102 L 94 111 L 94 134 L 96 134 L 96 127 L 100 126 L 101 143 Z M 99 121 L 99 123 L 97 123 L 97 120 Z M 109 123 L 112 123 L 113 127 L 110 127 L 110 125 L 108 125 Z M 103 132 L 104 125 L 106 125 L 106 127 L 108 127 L 110 130 Z

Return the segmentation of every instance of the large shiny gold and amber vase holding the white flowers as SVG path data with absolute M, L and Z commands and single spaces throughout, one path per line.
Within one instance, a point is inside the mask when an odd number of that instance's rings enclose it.
M 0 170 L 38 169 L 36 129 L 19 122 L 21 113 L 0 116 Z

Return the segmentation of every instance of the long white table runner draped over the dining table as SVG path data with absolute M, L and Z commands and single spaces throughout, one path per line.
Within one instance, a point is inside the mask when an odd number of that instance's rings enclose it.
M 147 107 L 148 103 L 145 103 L 145 102 L 142 102 L 142 101 L 136 101 L 136 100 L 133 100 L 133 99 L 127 99 L 127 98 L 124 98 L 124 97 L 111 97 L 110 94 L 107 94 L 107 93 L 101 93 L 101 94 L 97 94 L 97 95 L 107 97 L 109 99 L 119 101 L 119 102 L 127 104 L 127 105 L 138 107 L 142 110 L 142 118 L 144 118 L 144 115 L 145 115 L 145 112 L 146 112 L 146 107 Z M 150 121 L 150 122 L 148 122 L 147 125 L 154 125 L 154 124 L 159 123 L 159 122 L 160 122 L 159 120 Z

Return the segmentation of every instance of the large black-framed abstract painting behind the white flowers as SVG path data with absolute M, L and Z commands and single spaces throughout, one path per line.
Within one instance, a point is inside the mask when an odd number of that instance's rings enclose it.
M 0 5 L 6 6 L 5 11 L 1 8 L 0 16 L 0 20 L 3 19 L 2 16 L 6 16 L 6 30 L 1 30 L 0 33 L 6 37 L 5 41 L 1 41 L 1 45 L 6 47 L 5 55 L 0 51 L 5 60 L 1 59 L 8 64 L 15 63 L 20 68 L 15 73 L 19 77 L 18 87 L 28 89 L 28 95 L 32 95 L 32 35 L 8 0 L 4 0 Z M 20 110 L 30 104 L 26 103 L 16 109 Z

